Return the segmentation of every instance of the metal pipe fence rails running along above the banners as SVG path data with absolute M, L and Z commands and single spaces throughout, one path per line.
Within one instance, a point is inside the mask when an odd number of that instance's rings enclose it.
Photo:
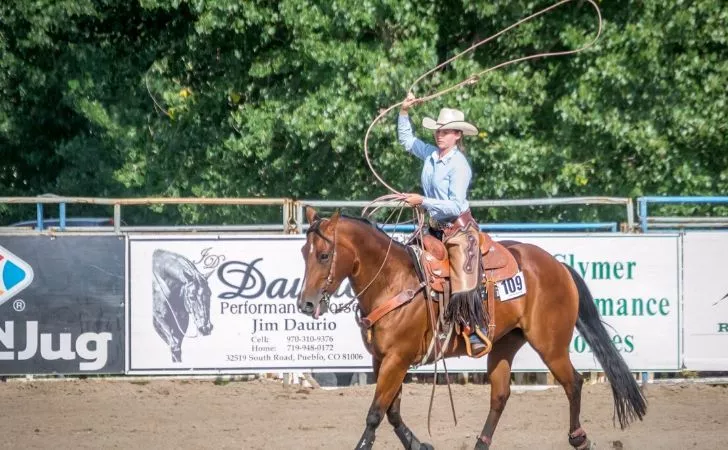
M 624 231 L 647 232 L 654 230 L 675 229 L 725 229 L 728 228 L 728 217 L 665 217 L 649 216 L 649 204 L 725 204 L 728 196 L 695 196 L 695 197 L 639 197 L 637 209 L 639 224 L 635 224 L 634 202 L 625 197 L 567 197 L 567 198 L 535 198 L 517 200 L 472 200 L 472 208 L 503 208 L 533 206 L 567 206 L 567 205 L 622 205 L 624 216 L 613 222 L 568 222 L 568 223 L 489 223 L 482 228 L 488 231 L 619 231 L 624 224 Z M 61 197 L 42 195 L 38 197 L 0 197 L 0 204 L 36 205 L 35 229 L 30 232 L 42 232 L 44 226 L 45 205 L 58 205 L 59 226 L 54 230 L 65 231 L 68 228 L 66 207 L 69 204 L 108 205 L 113 207 L 113 227 L 73 227 L 75 231 L 113 231 L 122 232 L 301 232 L 304 224 L 304 205 L 317 208 L 363 208 L 365 206 L 397 207 L 397 202 L 344 201 L 344 200 L 294 200 L 290 198 L 99 198 L 99 197 Z M 220 205 L 220 206 L 282 206 L 281 220 L 274 224 L 241 224 L 241 225 L 190 225 L 190 226 L 126 226 L 122 222 L 122 208 L 141 205 Z M 3 232 L 20 232 L 17 227 L 0 227 Z M 28 230 L 26 230 L 28 231 Z

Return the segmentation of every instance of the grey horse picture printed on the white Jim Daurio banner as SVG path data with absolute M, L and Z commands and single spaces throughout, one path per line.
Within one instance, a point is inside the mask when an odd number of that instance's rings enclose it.
M 210 323 L 210 286 L 189 259 L 157 249 L 152 257 L 152 308 L 154 329 L 167 343 L 173 362 L 182 362 L 182 340 L 208 336 Z M 190 316 L 194 326 L 190 327 Z M 188 329 L 188 328 L 191 328 Z M 193 334 L 188 334 L 192 331 Z

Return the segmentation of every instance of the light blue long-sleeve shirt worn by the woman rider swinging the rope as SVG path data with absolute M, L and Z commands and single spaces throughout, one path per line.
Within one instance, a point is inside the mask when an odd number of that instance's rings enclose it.
M 438 222 L 449 222 L 468 210 L 467 191 L 472 178 L 465 155 L 454 148 L 440 158 L 439 149 L 418 139 L 408 116 L 397 122 L 399 143 L 425 162 L 422 168 L 422 206 Z

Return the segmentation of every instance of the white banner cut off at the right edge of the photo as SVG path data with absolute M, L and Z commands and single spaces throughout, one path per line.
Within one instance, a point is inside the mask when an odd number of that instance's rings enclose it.
M 685 367 L 728 370 L 728 233 L 688 232 L 683 238 Z

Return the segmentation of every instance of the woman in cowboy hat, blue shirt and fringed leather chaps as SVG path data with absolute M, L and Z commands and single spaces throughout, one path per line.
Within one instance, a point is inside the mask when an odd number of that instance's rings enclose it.
M 472 356 L 487 349 L 487 331 L 481 289 L 478 224 L 470 214 L 467 190 L 472 171 L 462 152 L 463 136 L 475 136 L 478 129 L 465 121 L 461 111 L 443 108 L 437 121 L 426 117 L 422 126 L 434 131 L 436 145 L 426 144 L 412 132 L 409 109 L 417 102 L 411 93 L 402 103 L 397 133 L 399 143 L 424 161 L 419 194 L 403 194 L 412 206 L 422 206 L 430 214 L 431 229 L 440 231 L 450 257 L 452 297 L 445 318 L 457 321 L 466 335 Z M 438 233 L 440 234 L 440 233 Z

